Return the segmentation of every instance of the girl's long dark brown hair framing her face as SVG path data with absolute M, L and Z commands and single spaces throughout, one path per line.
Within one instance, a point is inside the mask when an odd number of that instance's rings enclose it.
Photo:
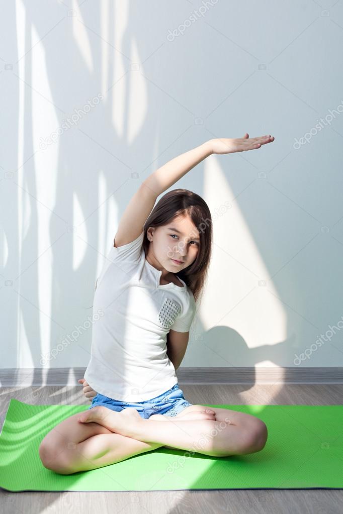
M 200 248 L 194 262 L 177 273 L 191 289 L 196 302 L 201 299 L 204 291 L 212 252 L 212 218 L 204 198 L 188 189 L 173 189 L 163 195 L 144 224 L 142 248 L 147 255 L 150 245 L 147 237 L 149 227 L 167 225 L 180 215 L 188 216 L 200 233 Z

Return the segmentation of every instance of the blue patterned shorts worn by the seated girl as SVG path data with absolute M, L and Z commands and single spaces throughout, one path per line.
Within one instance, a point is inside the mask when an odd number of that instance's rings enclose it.
M 108 396 L 98 393 L 92 400 L 92 405 L 88 409 L 92 409 L 97 405 L 103 405 L 113 411 L 121 412 L 127 407 L 133 407 L 138 411 L 138 414 L 143 419 L 148 419 L 153 414 L 166 414 L 168 416 L 176 416 L 179 412 L 183 411 L 185 407 L 189 407 L 189 403 L 184 398 L 183 391 L 175 384 L 171 389 L 165 393 L 152 398 L 151 400 L 126 402 L 121 400 L 114 400 Z

